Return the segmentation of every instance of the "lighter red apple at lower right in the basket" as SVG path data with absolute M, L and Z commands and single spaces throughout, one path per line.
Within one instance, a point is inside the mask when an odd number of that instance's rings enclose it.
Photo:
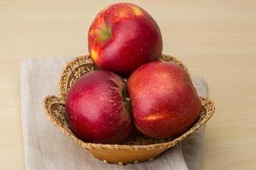
M 181 66 L 154 61 L 139 67 L 128 80 L 133 120 L 153 138 L 174 137 L 198 118 L 201 100 Z

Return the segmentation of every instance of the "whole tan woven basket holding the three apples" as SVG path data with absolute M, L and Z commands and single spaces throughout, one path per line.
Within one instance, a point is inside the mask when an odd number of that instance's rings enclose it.
M 163 54 L 161 60 L 180 65 L 188 71 L 183 63 L 175 57 Z M 79 139 L 69 128 L 65 101 L 67 92 L 73 82 L 78 80 L 79 77 L 86 72 L 94 71 L 95 69 L 95 65 L 89 55 L 79 56 L 69 61 L 61 74 L 59 95 L 50 95 L 44 98 L 44 111 L 46 115 L 49 116 L 49 120 L 53 122 L 62 133 L 65 133 L 84 149 L 89 150 L 90 153 L 99 160 L 108 163 L 118 163 L 120 165 L 150 161 L 154 159 L 155 156 L 160 155 L 163 151 L 185 139 L 189 134 L 194 133 L 196 129 L 211 118 L 214 112 L 213 102 L 210 99 L 201 98 L 201 114 L 198 120 L 186 132 L 177 136 L 177 138 L 152 139 L 142 133 L 135 132 L 129 139 L 126 139 L 125 142 L 121 144 L 86 143 Z

